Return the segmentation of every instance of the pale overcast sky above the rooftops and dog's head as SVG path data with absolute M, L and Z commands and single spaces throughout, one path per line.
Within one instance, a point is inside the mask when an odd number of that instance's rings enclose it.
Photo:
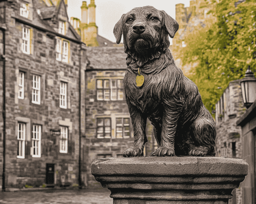
M 81 5 L 83 0 L 68 0 L 68 17 L 81 19 Z M 190 0 L 95 0 L 96 25 L 98 34 L 115 42 L 113 28 L 123 13 L 135 7 L 152 5 L 159 10 L 165 10 L 175 19 L 175 4 L 183 3 L 189 6 Z M 87 0 L 87 5 L 90 0 Z M 171 42 L 172 43 L 172 42 Z

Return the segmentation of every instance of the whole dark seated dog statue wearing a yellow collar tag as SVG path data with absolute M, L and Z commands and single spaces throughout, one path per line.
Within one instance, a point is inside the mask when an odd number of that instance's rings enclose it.
M 153 6 L 123 14 L 114 26 L 116 43 L 123 34 L 127 70 L 125 100 L 134 128 L 134 145 L 124 157 L 143 156 L 147 118 L 159 148 L 151 156 L 214 156 L 216 127 L 193 81 L 175 65 L 169 50 L 178 22 Z

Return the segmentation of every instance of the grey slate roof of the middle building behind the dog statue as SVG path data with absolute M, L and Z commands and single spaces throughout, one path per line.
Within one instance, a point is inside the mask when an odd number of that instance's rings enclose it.
M 86 47 L 88 69 L 126 69 L 124 47 Z

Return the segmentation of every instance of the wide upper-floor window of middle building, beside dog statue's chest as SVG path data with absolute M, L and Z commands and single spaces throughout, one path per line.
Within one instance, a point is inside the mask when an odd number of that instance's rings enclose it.
M 123 79 L 97 79 L 97 100 L 123 100 Z

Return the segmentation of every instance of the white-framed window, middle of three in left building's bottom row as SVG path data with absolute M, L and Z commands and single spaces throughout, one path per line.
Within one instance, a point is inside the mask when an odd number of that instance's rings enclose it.
M 32 129 L 32 157 L 41 157 L 41 125 L 33 124 Z

